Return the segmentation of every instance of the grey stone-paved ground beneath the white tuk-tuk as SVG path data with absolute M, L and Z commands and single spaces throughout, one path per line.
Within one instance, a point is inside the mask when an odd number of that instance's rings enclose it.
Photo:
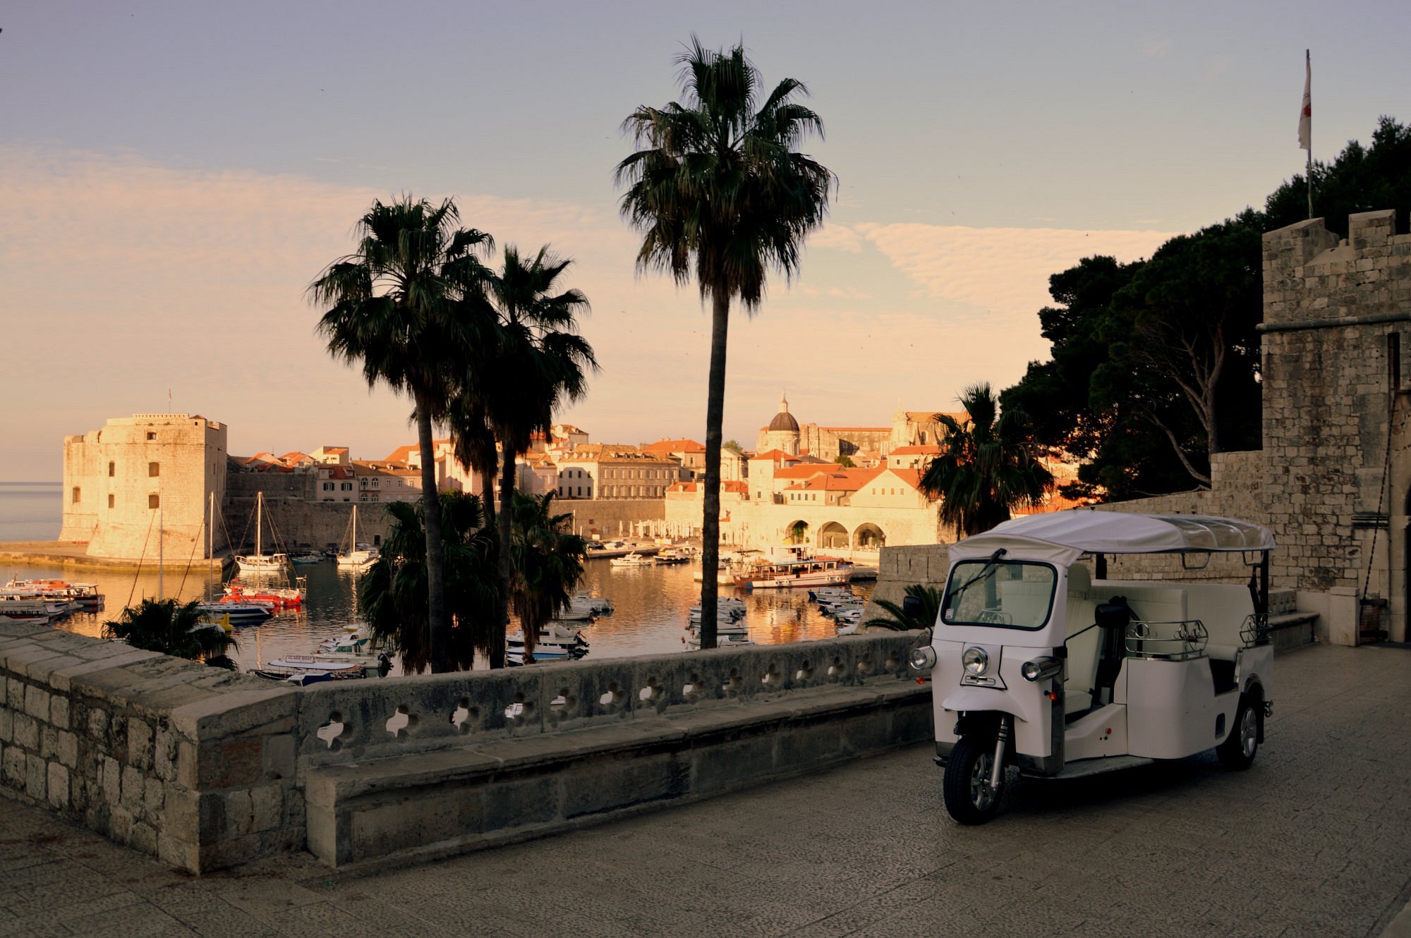
M 961 829 L 913 746 L 821 776 L 364 876 L 192 879 L 0 800 L 8 935 L 1411 935 L 1411 650 L 1278 659 L 1247 773 L 1024 783 Z

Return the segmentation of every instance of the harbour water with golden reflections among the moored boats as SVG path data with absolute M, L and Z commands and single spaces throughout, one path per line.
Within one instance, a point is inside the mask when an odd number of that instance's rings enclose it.
M 354 574 L 340 571 L 332 560 L 295 570 L 309 578 L 303 609 L 285 611 L 264 625 L 237 629 L 238 647 L 231 657 L 240 663 L 241 670 L 258 667 L 281 654 L 308 654 L 320 640 L 340 633 L 346 625 L 357 621 Z M 99 638 L 103 622 L 116 619 L 124 605 L 144 597 L 157 597 L 159 588 L 165 595 L 183 601 L 205 598 L 212 591 L 220 594 L 219 575 L 209 577 L 205 566 L 193 567 L 185 574 L 168 570 L 161 578 L 152 570 L 144 570 L 135 577 L 133 573 L 65 573 L 58 567 L 8 567 L 0 573 L 23 578 L 54 577 L 96 583 L 107 597 L 104 611 L 75 614 L 58 626 L 92 638 Z M 583 588 L 608 597 L 617 607 L 612 615 L 583 629 L 584 638 L 591 643 L 590 659 L 686 650 L 686 619 L 690 608 L 700 601 L 700 584 L 691 578 L 690 566 L 612 567 L 604 560 L 590 560 Z M 868 595 L 872 584 L 855 584 L 854 588 Z M 835 635 L 832 619 L 809 602 L 806 590 L 745 592 L 722 587 L 721 595 L 738 595 L 745 601 L 745 625 L 749 628 L 749 638 L 759 645 L 827 639 Z M 395 673 L 398 669 L 394 669 Z

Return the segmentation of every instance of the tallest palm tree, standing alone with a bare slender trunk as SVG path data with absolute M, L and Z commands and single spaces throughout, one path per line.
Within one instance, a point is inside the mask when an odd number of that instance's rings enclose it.
M 639 150 L 617 165 L 622 214 L 642 233 L 639 271 L 696 276 L 711 303 L 706 399 L 703 568 L 720 559 L 720 449 L 729 303 L 758 312 L 769 268 L 790 278 L 804 237 L 827 213 L 837 178 L 796 152 L 823 121 L 785 79 L 759 100 L 762 78 L 744 47 L 713 52 L 691 37 L 677 56 L 686 102 L 638 107 L 624 121 Z M 715 581 L 701 581 L 701 647 L 715 646 Z

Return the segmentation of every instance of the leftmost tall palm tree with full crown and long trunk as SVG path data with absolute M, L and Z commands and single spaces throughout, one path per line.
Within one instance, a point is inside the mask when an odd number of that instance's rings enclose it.
M 483 231 L 456 227 L 459 221 L 450 199 L 439 206 L 411 196 L 374 202 L 357 223 L 353 254 L 333 261 L 309 286 L 310 300 L 327 307 L 317 329 L 329 353 L 360 363 L 368 386 L 385 382 L 413 402 L 432 671 L 450 669 L 432 423 L 446 415 L 453 368 L 483 340 L 460 300 L 481 291 L 485 268 L 476 254 L 494 244 Z

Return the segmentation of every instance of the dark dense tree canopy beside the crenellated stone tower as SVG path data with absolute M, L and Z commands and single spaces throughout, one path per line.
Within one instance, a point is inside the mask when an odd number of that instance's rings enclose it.
M 1370 147 L 1352 141 L 1314 164 L 1314 209 L 1346 234 L 1348 214 L 1411 206 L 1411 127 L 1383 117 Z M 1048 361 L 1002 392 L 1036 439 L 1079 460 L 1070 497 L 1120 501 L 1211 482 L 1211 454 L 1260 446 L 1261 236 L 1308 213 L 1302 176 L 1266 200 L 1150 258 L 1086 257 L 1054 274 L 1038 310 Z

